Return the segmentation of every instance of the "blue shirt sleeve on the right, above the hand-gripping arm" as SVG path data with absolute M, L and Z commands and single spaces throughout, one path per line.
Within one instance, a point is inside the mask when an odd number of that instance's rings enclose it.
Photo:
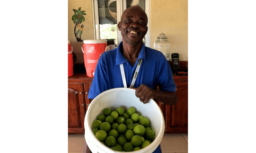
M 158 70 L 157 75 L 157 85 L 159 86 L 160 91 L 176 91 L 176 85 L 173 81 L 172 70 L 165 59 L 165 57 L 161 60 L 160 69 Z

